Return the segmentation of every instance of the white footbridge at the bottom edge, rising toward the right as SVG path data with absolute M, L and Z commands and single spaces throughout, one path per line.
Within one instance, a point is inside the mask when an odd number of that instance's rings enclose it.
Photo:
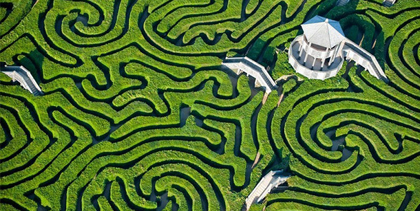
M 245 199 L 246 210 L 249 210 L 253 203 L 260 203 L 262 199 L 271 192 L 271 190 L 287 181 L 289 176 L 284 176 L 282 173 L 283 170 L 271 170 L 268 174 L 262 177 L 261 181 Z

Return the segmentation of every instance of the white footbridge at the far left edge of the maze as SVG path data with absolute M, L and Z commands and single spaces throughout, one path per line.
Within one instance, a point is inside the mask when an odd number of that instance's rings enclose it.
M 0 67 L 3 74 L 12 78 L 13 82 L 18 81 L 24 89 L 28 89 L 34 96 L 43 94 L 41 88 L 30 74 L 30 71 L 23 66 L 7 66 Z

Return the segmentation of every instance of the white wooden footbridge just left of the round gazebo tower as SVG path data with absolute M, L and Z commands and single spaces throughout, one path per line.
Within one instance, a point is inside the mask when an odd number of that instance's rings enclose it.
M 255 78 L 255 87 L 262 87 L 265 91 L 263 103 L 266 100 L 271 91 L 277 89 L 273 78 L 266 71 L 265 67 L 256 63 L 254 60 L 248 57 L 238 57 L 238 58 L 226 58 L 222 65 L 228 67 L 229 69 L 235 71 L 235 74 L 241 74 L 242 72 L 246 73 L 246 76 L 253 76 Z

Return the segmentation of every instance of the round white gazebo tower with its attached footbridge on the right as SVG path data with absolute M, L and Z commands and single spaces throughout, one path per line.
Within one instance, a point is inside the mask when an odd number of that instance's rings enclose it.
M 324 80 L 337 75 L 346 58 L 388 81 L 375 56 L 346 38 L 338 21 L 315 16 L 302 24 L 302 29 L 304 34 L 297 36 L 288 49 L 288 63 L 298 73 Z

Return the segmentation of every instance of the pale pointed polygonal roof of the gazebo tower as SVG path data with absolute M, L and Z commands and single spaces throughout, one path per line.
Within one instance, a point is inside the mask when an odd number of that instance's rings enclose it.
M 346 37 L 338 21 L 322 16 L 314 16 L 301 26 L 308 42 L 322 47 L 332 48 Z

